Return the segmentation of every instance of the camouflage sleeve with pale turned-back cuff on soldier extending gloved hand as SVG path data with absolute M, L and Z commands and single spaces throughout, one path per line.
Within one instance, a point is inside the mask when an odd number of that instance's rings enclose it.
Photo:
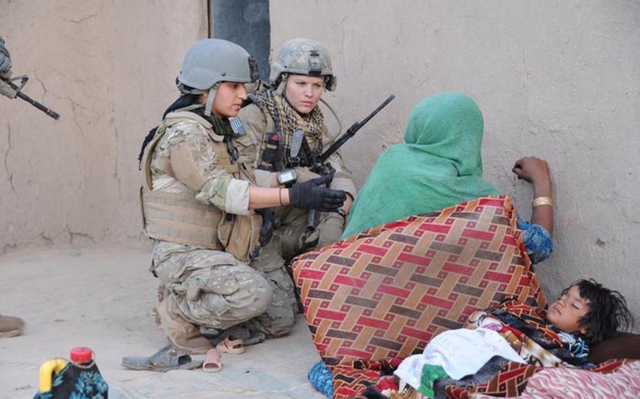
M 198 201 L 231 214 L 248 213 L 249 182 L 226 171 L 200 124 L 179 122 L 165 134 L 174 177 L 195 190 Z

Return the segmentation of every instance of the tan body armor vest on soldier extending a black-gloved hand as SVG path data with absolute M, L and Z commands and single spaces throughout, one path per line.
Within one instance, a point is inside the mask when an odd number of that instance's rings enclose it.
M 181 185 L 181 192 L 153 190 L 151 160 L 158 141 L 168 127 L 191 119 L 198 122 L 211 138 L 220 163 L 234 178 L 253 181 L 250 170 L 241 163 L 231 164 L 224 137 L 212 130 L 212 124 L 193 112 L 171 112 L 158 126 L 143 157 L 143 182 L 140 189 L 142 224 L 146 235 L 155 240 L 192 244 L 198 247 L 226 251 L 241 261 L 250 262 L 260 249 L 262 217 L 250 210 L 247 215 L 227 214 L 198 202 L 196 192 Z M 167 176 L 175 177 L 169 170 Z

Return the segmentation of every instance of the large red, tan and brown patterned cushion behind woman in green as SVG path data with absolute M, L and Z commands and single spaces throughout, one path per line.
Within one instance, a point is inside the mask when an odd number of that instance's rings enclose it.
M 433 336 L 505 296 L 546 305 L 506 196 L 366 230 L 300 256 L 293 275 L 338 398 L 379 375 L 354 362 L 421 353 Z

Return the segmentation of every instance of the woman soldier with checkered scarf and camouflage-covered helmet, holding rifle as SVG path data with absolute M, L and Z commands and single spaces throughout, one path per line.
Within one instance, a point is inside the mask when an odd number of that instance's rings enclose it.
M 318 178 L 309 171 L 309 155 L 327 148 L 332 139 L 318 103 L 324 90 L 333 91 L 336 84 L 327 49 L 310 39 L 287 41 L 271 65 L 269 80 L 271 90 L 251 96 L 253 104 L 238 115 L 246 131 L 238 138 L 241 159 L 255 167 L 257 183 L 264 187 L 286 187 L 287 179 L 300 183 Z M 356 188 L 340 155 L 330 157 L 329 163 L 335 169 L 330 187 L 347 192 L 344 207 L 324 214 L 316 230 L 307 228 L 306 210 L 277 208 L 279 228 L 263 252 L 263 257 L 273 255 L 272 264 L 279 256 L 288 260 L 340 238 Z

